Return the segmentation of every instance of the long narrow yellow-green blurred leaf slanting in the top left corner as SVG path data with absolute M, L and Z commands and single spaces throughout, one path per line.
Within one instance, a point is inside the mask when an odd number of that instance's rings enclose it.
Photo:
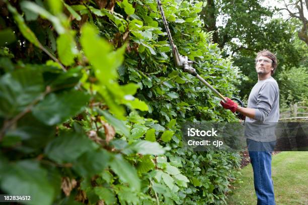
M 17 23 L 17 26 L 20 30 L 20 32 L 23 34 L 23 36 L 33 43 L 37 47 L 41 47 L 42 45 L 37 40 L 35 34 L 29 29 L 29 27 L 26 25 L 25 20 L 22 18 L 22 16 L 17 12 L 17 10 L 12 7 L 10 4 L 8 4 L 9 11 L 13 14 L 13 18 Z

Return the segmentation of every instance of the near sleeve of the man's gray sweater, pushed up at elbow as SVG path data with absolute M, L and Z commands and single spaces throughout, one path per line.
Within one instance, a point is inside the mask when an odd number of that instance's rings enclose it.
M 272 110 L 274 100 L 278 94 L 278 87 L 274 82 L 266 82 L 257 97 L 255 120 L 264 122 Z

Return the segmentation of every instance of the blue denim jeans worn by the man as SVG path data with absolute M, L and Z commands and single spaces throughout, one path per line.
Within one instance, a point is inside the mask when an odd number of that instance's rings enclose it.
M 247 139 L 251 165 L 254 171 L 254 185 L 257 205 L 275 205 L 274 184 L 272 180 L 272 155 L 276 141 L 257 142 Z

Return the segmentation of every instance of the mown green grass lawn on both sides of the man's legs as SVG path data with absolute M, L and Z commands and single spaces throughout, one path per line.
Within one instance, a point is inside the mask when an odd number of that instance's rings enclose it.
M 228 196 L 227 204 L 257 204 L 251 164 L 241 170 L 243 183 Z M 272 156 L 277 205 L 308 204 L 308 152 L 281 152 Z

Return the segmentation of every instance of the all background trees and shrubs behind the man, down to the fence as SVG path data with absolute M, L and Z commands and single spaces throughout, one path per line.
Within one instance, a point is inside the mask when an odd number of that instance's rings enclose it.
M 233 65 L 242 71 L 242 83 L 238 86 L 242 99 L 248 98 L 257 80 L 256 54 L 267 49 L 275 53 L 278 60 L 273 77 L 280 87 L 280 108 L 305 100 L 305 94 L 301 93 L 306 93 L 306 77 L 294 79 L 291 76 L 303 74 L 303 69 L 308 67 L 308 48 L 298 37 L 302 22 L 288 13 L 279 14 L 288 2 L 209 0 L 206 3 L 200 13 L 203 29 L 213 32 L 213 42 L 223 48 L 223 56 L 232 56 Z M 305 13 L 305 3 L 301 4 Z M 289 88 L 290 85 L 294 89 Z M 295 90 L 298 85 L 299 89 Z

